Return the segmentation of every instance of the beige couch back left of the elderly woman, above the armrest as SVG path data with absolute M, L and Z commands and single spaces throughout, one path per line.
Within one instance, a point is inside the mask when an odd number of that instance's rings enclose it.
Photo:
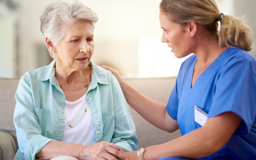
M 15 133 L 13 112 L 16 104 L 15 92 L 20 78 L 0 78 L 0 130 Z

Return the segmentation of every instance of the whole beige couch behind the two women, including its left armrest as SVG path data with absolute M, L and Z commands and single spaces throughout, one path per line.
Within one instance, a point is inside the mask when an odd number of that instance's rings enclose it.
M 125 78 L 125 81 L 148 97 L 167 103 L 176 78 Z M 0 160 L 12 160 L 18 149 L 13 125 L 14 94 L 19 78 L 0 78 Z M 168 133 L 145 121 L 130 108 L 136 125 L 139 147 L 164 143 L 180 136 L 180 131 Z

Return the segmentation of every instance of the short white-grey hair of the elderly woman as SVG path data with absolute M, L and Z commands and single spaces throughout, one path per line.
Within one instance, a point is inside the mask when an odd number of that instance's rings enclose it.
M 78 20 L 88 20 L 94 28 L 94 24 L 98 21 L 96 13 L 77 0 L 56 1 L 48 4 L 39 18 L 44 38 L 48 37 L 54 44 L 58 44 L 64 37 L 66 30 L 63 26 Z M 55 59 L 55 55 L 51 51 L 49 53 Z

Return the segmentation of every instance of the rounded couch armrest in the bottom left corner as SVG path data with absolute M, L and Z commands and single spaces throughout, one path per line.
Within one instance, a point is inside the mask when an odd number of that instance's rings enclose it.
M 0 160 L 13 160 L 17 150 L 17 139 L 8 132 L 0 131 Z

